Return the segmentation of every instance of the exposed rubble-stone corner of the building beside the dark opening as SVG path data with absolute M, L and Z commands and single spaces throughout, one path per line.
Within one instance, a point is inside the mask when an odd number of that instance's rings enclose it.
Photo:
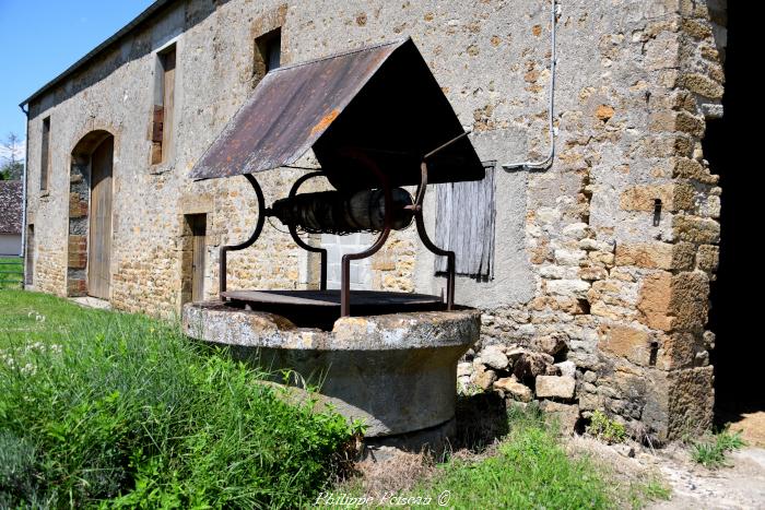
M 585 417 L 604 408 L 660 440 L 711 420 L 714 334 L 704 327 L 720 188 L 701 139 L 723 91 L 706 5 L 664 5 L 660 15 L 626 15 L 600 37 L 601 80 L 562 111 L 557 164 L 530 176 L 537 296 L 484 316 L 486 344 L 511 339 L 554 355 L 548 369 L 574 361 L 576 399 L 554 401 Z M 471 380 L 484 388 L 493 348 L 473 360 Z M 539 388 L 537 396 L 546 400 Z

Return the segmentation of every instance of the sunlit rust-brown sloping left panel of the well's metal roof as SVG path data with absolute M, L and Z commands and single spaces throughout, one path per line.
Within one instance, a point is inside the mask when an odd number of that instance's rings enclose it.
M 195 166 L 207 179 L 297 161 L 403 41 L 275 69 Z

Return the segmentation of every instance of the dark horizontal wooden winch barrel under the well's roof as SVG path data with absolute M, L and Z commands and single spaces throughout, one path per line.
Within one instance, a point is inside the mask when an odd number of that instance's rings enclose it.
M 391 190 L 391 223 L 395 230 L 412 223 L 412 197 L 402 188 Z M 385 193 L 363 190 L 352 194 L 340 191 L 302 193 L 278 200 L 271 215 L 284 225 L 295 225 L 311 234 L 381 232 L 385 228 Z

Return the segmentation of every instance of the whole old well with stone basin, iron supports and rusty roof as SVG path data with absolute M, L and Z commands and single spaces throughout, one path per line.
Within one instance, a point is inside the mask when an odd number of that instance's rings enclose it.
M 258 210 L 248 239 L 221 246 L 220 300 L 184 309 L 186 333 L 269 372 L 293 370 L 293 384 L 318 386 L 340 413 L 366 424 L 367 446 L 438 451 L 455 428 L 457 360 L 479 339 L 480 313 L 455 307 L 457 253 L 429 238 L 424 200 L 428 185 L 485 178 L 468 134 L 410 38 L 269 72 L 189 174 L 244 176 Z M 313 171 L 267 206 L 259 174 L 284 171 L 308 149 L 315 161 L 304 168 Z M 309 179 L 328 190 L 298 193 Z M 227 253 L 255 245 L 266 218 L 318 256 L 317 288 L 227 288 Z M 445 296 L 352 290 L 351 262 L 410 225 L 446 260 Z M 375 241 L 342 254 L 340 289 L 327 288 L 330 253 L 299 234 L 362 232 L 376 233 Z

